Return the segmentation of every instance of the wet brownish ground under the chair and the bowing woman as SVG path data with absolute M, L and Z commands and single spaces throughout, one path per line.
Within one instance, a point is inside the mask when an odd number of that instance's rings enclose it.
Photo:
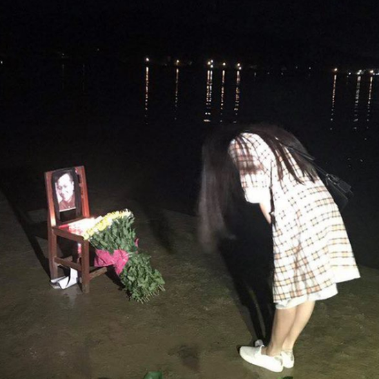
M 378 376 L 378 270 L 361 266 L 360 280 L 318 303 L 295 348 L 295 367 L 269 373 L 237 354 L 240 344 L 264 335 L 269 297 L 261 287 L 242 299 L 227 261 L 197 246 L 195 217 L 147 214 L 115 192 L 104 197 L 101 188 L 91 200 L 98 213 L 125 206 L 135 212 L 142 247 L 164 275 L 166 292 L 137 304 L 106 275 L 91 282 L 88 295 L 78 286 L 52 289 L 43 269 L 46 240 L 27 235 L 1 195 L 1 378 L 142 379 L 147 371 L 165 379 Z M 29 216 L 38 224 L 45 214 Z

